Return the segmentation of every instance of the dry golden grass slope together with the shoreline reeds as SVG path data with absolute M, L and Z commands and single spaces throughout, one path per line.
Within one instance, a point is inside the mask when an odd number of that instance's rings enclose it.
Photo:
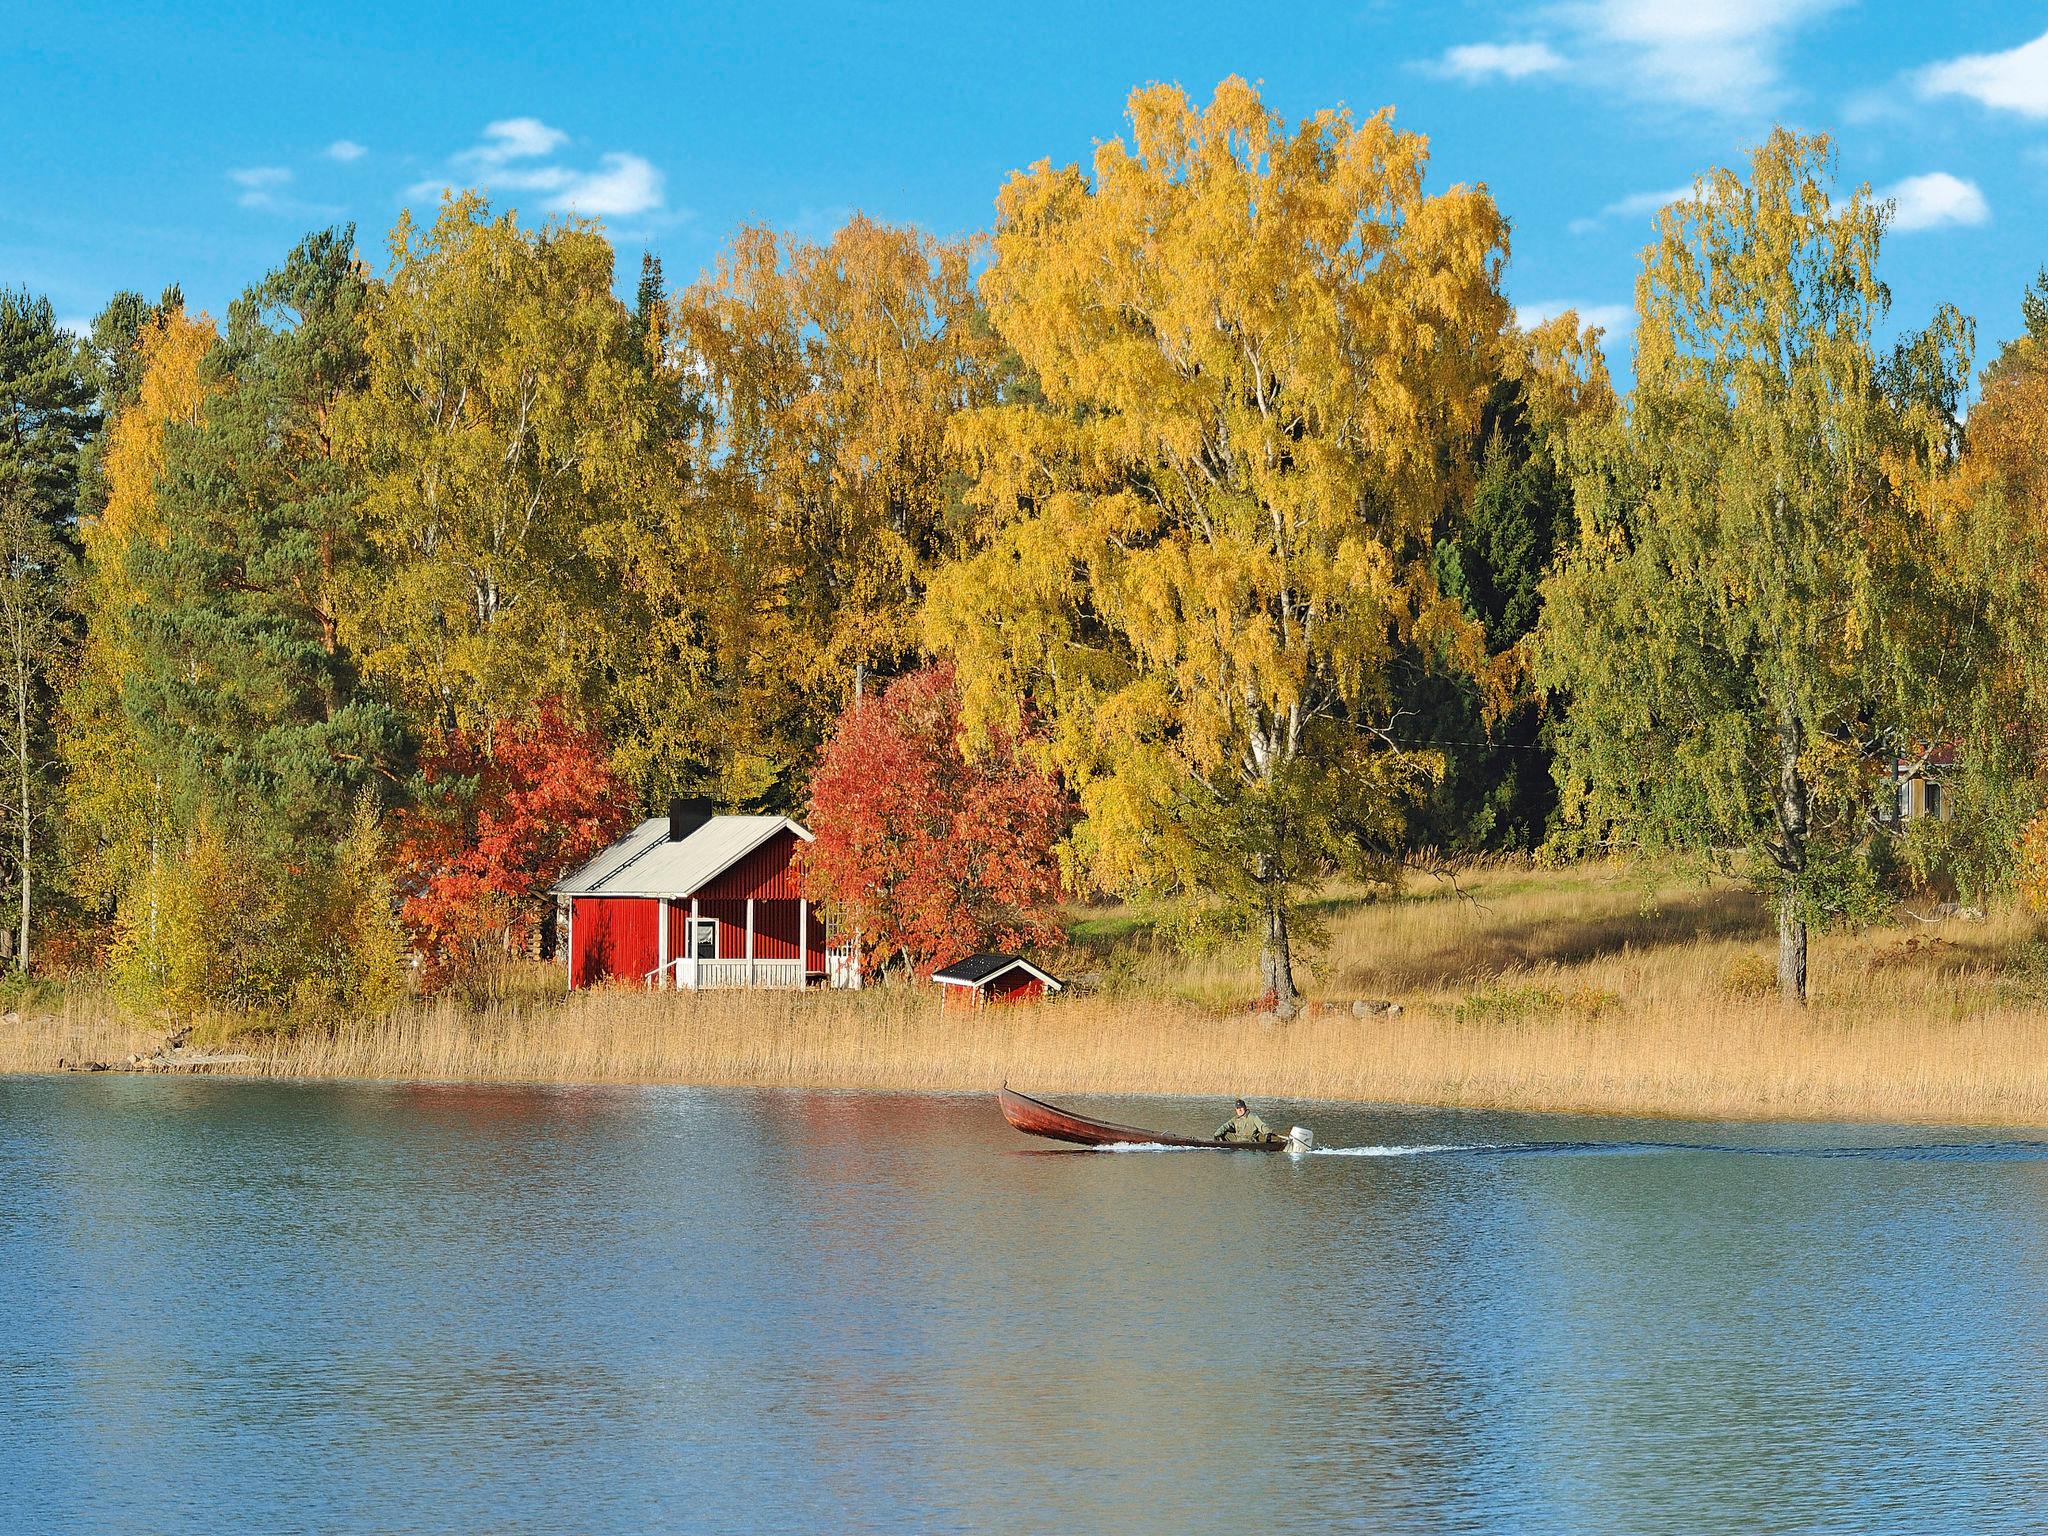
M 1149 913 L 1090 909 L 1038 1008 L 938 1010 L 932 989 L 598 991 L 510 977 L 428 1004 L 246 1036 L 305 1077 L 696 1081 L 1049 1094 L 1286 1096 L 1714 1118 L 2048 1124 L 2048 942 L 2017 911 L 1903 913 L 1821 938 L 1812 1006 L 1774 997 L 1757 903 L 1624 866 L 1493 868 L 1395 899 L 1333 891 L 1311 1008 L 1251 1016 L 1245 954 L 1178 954 Z M 1354 1018 L 1356 997 L 1401 1004 Z M 1325 1006 L 1333 1004 L 1333 1006 Z M 119 1059 L 160 1030 L 68 987 L 0 1024 L 0 1069 Z

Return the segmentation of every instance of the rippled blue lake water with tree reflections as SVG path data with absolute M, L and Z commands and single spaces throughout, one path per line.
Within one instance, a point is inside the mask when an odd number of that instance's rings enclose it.
M 0 1079 L 0 1530 L 2048 1526 L 2048 1147 L 1260 1108 Z

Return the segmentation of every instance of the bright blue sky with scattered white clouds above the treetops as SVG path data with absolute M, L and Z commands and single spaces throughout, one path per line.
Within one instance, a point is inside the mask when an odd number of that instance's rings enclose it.
M 1116 135 L 1133 86 L 1206 98 L 1227 74 L 1288 117 L 1395 104 L 1436 186 L 1483 180 L 1513 221 L 1516 303 L 1579 305 L 1624 367 L 1649 209 L 1774 121 L 1901 199 L 1896 324 L 1950 299 L 1989 356 L 2048 262 L 2036 4 L 72 2 L 6 33 L 0 285 L 66 319 L 168 281 L 219 313 L 336 219 L 381 262 L 399 207 L 444 184 L 600 215 L 623 287 L 641 248 L 686 281 L 752 219 L 979 229 L 1012 170 Z

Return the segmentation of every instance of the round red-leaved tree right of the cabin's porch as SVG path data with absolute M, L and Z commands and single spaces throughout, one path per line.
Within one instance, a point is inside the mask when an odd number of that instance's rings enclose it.
M 961 752 L 952 668 L 854 702 L 811 780 L 805 885 L 858 928 L 864 961 L 920 973 L 971 954 L 1059 940 L 1059 786 L 1012 739 Z

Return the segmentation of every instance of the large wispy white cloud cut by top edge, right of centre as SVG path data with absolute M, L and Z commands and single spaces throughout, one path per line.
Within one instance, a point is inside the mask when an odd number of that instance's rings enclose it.
M 1665 106 L 1755 113 L 1782 94 L 1786 41 L 1845 0 L 1569 0 L 1589 78 Z

